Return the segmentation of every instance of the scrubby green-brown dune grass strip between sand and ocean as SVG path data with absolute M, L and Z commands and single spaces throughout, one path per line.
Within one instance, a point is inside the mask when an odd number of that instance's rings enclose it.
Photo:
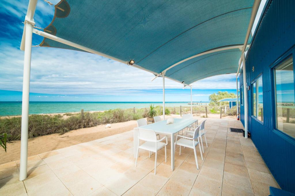
M 213 107 L 207 106 L 207 112 L 212 113 L 210 110 Z M 185 109 L 186 108 L 186 109 Z M 214 108 L 217 110 L 218 107 Z M 156 110 L 160 110 L 157 107 Z M 190 113 L 189 107 L 182 107 L 182 110 Z M 163 108 L 161 107 L 161 112 L 157 111 L 157 115 L 163 113 Z M 179 107 L 168 107 L 165 108 L 165 114 L 180 114 Z M 204 116 L 204 107 L 193 107 L 193 113 L 196 115 Z M 182 112 L 184 114 L 184 112 Z M 107 110 L 104 112 L 84 112 L 83 118 L 81 113 L 65 113 L 67 118 L 63 118 L 62 115 L 30 115 L 29 116 L 29 138 L 34 138 L 42 135 L 48 135 L 53 133 L 63 134 L 71 130 L 76 130 L 79 128 L 94 127 L 101 124 L 112 124 L 125 122 L 129 120 L 137 120 L 140 118 L 146 118 L 149 116 L 148 108 L 135 109 L 115 109 Z M 229 114 L 230 115 L 230 114 Z M 9 141 L 20 140 L 21 137 L 21 117 L 0 117 L 0 134 L 7 133 L 9 135 Z

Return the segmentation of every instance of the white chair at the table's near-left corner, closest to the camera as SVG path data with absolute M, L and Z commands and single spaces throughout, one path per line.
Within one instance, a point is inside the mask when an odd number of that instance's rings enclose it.
M 166 143 L 161 142 L 166 139 Z M 139 145 L 139 140 L 144 140 L 145 143 Z M 157 167 L 157 151 L 165 148 L 165 162 L 167 162 L 167 152 L 166 146 L 168 145 L 167 136 L 163 137 L 160 140 L 157 140 L 157 136 L 154 130 L 138 128 L 138 144 L 137 144 L 137 153 L 135 159 L 135 167 L 137 165 L 137 157 L 139 149 L 148 150 L 149 152 L 155 153 L 155 174 Z M 149 154 L 150 155 L 150 154 Z

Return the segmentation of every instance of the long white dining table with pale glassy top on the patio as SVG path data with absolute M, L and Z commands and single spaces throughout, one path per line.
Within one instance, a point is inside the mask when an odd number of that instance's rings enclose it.
M 149 125 L 144 125 L 139 128 L 143 129 L 151 129 L 154 130 L 156 133 L 160 133 L 162 135 L 170 135 L 171 136 L 171 170 L 174 170 L 174 134 L 178 133 L 182 129 L 188 127 L 191 124 L 197 123 L 197 119 L 181 119 L 181 118 L 174 118 L 174 123 L 166 125 L 167 120 L 162 120 L 157 123 L 152 123 Z M 137 141 L 138 141 L 138 130 L 134 128 L 134 158 L 136 158 L 137 152 Z

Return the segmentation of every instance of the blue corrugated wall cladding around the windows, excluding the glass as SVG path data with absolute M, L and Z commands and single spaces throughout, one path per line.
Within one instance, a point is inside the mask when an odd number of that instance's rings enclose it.
M 295 140 L 275 130 L 274 90 L 271 68 L 293 53 L 295 58 L 295 1 L 270 0 L 260 20 L 246 57 L 247 83 L 262 73 L 263 114 L 261 123 L 251 117 L 252 98 L 248 91 L 249 131 L 260 155 L 284 190 L 295 193 Z M 254 71 L 252 67 L 254 66 Z M 242 74 L 240 75 L 242 85 Z M 244 120 L 241 106 L 241 120 Z

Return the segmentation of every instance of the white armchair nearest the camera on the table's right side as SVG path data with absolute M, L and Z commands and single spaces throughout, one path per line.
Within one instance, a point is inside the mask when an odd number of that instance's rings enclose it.
M 196 146 L 197 145 L 199 145 L 201 158 L 203 160 L 203 155 L 202 155 L 202 152 L 201 152 L 201 146 L 200 146 L 200 140 L 199 140 L 199 130 L 200 130 L 200 128 L 201 128 L 201 126 L 198 126 L 197 128 L 192 128 L 194 131 L 187 131 L 187 132 L 191 132 L 193 134 L 194 137 L 192 137 L 192 138 L 189 138 L 189 137 L 186 137 L 186 136 L 183 136 L 183 135 L 177 135 L 176 136 L 176 141 L 174 143 L 174 149 L 175 149 L 176 145 L 179 145 L 179 155 L 181 155 L 181 146 L 194 149 L 195 160 L 196 160 L 196 165 L 197 165 L 198 170 L 199 170 L 199 165 L 198 165 L 197 153 L 196 153 Z M 177 140 L 178 137 L 180 137 L 179 140 Z M 196 139 L 197 139 L 197 141 L 195 141 Z

